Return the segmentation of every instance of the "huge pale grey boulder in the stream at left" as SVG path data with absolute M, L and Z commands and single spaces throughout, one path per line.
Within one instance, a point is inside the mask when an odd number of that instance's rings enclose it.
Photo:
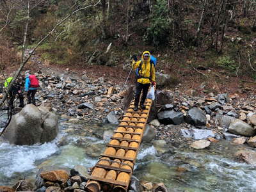
M 47 108 L 26 105 L 12 116 L 4 139 L 15 145 L 33 145 L 54 140 L 58 133 L 58 116 Z

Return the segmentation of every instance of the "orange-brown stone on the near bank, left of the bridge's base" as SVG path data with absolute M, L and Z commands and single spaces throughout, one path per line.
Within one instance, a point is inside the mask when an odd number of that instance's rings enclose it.
M 40 177 L 45 180 L 50 180 L 52 182 L 67 182 L 69 175 L 65 170 L 54 170 L 49 172 L 40 173 Z

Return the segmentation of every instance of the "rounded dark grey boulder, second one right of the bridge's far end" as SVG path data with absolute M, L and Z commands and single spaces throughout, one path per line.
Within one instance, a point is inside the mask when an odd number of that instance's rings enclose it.
M 189 109 L 185 118 L 186 123 L 191 125 L 206 125 L 206 116 L 204 112 L 198 108 Z

